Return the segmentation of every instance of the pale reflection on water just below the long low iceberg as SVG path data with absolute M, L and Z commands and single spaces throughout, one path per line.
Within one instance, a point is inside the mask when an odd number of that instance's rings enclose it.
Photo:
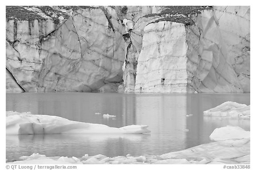
M 70 157 L 74 155 L 82 157 L 84 154 L 115 156 L 121 153 L 121 155 L 125 155 L 129 147 L 141 147 L 143 141 L 146 141 L 148 137 L 150 134 L 6 135 L 6 155 L 8 155 L 9 161 L 33 153 L 47 156 L 64 156 L 65 153 L 66 156 Z M 93 152 L 92 148 L 97 148 L 99 152 Z

